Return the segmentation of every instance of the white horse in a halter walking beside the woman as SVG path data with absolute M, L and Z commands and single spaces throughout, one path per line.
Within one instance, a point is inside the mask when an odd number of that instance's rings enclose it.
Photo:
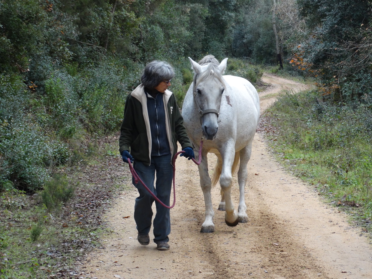
M 227 58 L 219 64 L 213 55 L 207 55 L 199 64 L 190 57 L 194 80 L 186 93 L 182 116 L 195 154 L 203 137 L 202 160 L 198 166 L 200 185 L 205 202 L 205 221 L 201 232 L 214 232 L 214 210 L 211 189 L 221 185 L 219 210 L 225 210 L 225 222 L 236 226 L 246 223 L 244 188 L 247 182 L 247 164 L 252 141 L 260 117 L 260 100 L 254 86 L 246 79 L 222 76 Z M 218 161 L 211 180 L 208 174 L 207 154 L 214 153 Z M 232 174 L 239 162 L 238 183 L 240 202 L 238 210 L 231 201 Z

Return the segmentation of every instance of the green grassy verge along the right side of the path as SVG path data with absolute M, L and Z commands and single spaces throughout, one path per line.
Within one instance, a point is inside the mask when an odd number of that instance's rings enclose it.
M 331 104 L 316 92 L 284 93 L 262 116 L 275 154 L 372 231 L 372 133 L 368 104 Z M 270 129 L 267 127 L 270 123 Z

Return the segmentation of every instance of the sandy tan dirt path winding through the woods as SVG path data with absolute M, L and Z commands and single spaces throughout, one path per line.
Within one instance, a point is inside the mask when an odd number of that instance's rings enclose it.
M 303 88 L 275 76 L 264 76 L 263 81 L 273 86 L 260 93 L 262 109 L 283 88 Z M 208 160 L 210 166 L 213 160 Z M 248 163 L 246 224 L 225 225 L 224 212 L 217 210 L 219 188 L 215 187 L 215 232 L 201 234 L 204 201 L 198 169 L 182 158 L 177 159 L 176 169 L 170 250 L 157 251 L 154 243 L 138 243 L 132 217 L 137 192 L 130 186 L 127 165 L 120 164 L 118 174 L 126 176 L 122 182 L 129 184 L 128 190 L 107 215 L 112 233 L 102 240 L 100 249 L 88 255 L 81 278 L 372 278 L 368 239 L 347 223 L 344 214 L 323 203 L 311 186 L 287 174 L 270 157 L 259 133 Z M 236 174 L 234 178 L 232 196 L 237 206 Z

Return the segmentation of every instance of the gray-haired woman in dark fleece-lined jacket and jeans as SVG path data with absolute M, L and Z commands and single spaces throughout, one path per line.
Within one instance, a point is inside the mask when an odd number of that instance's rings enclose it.
M 171 161 L 177 153 L 177 141 L 185 151 L 181 156 L 195 158 L 176 98 L 168 90 L 173 76 L 174 70 L 166 62 L 152 61 L 145 66 L 142 83 L 126 98 L 119 138 L 123 161 L 130 160 L 144 184 L 168 206 L 173 181 Z M 134 205 L 138 242 L 150 243 L 151 206 L 155 201 L 154 242 L 158 250 L 169 250 L 170 209 L 157 202 L 141 182 L 132 179 L 132 183 L 139 193 Z

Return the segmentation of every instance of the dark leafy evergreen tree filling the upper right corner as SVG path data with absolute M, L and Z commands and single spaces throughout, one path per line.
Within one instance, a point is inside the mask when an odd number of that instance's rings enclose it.
M 315 73 L 324 93 L 336 100 L 371 91 L 372 6 L 368 0 L 298 0 L 306 32 L 294 64 Z

